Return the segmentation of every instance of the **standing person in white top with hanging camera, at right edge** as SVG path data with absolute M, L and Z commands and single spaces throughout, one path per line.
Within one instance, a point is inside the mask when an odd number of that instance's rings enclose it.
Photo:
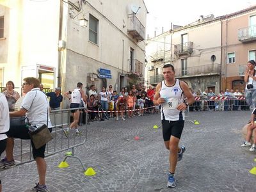
M 246 65 L 246 70 L 244 71 L 244 82 L 245 86 L 245 99 L 248 106 L 252 105 L 252 108 L 255 108 L 256 104 L 256 70 L 255 70 L 255 61 L 250 60 Z

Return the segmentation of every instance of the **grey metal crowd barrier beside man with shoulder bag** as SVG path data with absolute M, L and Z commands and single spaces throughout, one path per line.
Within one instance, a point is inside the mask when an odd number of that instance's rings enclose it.
M 82 132 L 82 135 L 76 136 L 76 131 L 72 129 L 69 131 L 69 135 L 67 138 L 63 131 L 64 129 L 67 129 L 67 127 L 70 125 L 70 110 L 74 109 L 79 109 L 81 111 L 84 110 L 83 113 L 81 112 L 78 127 L 79 131 Z M 70 156 L 66 156 L 65 160 L 67 159 L 67 157 L 74 157 L 78 159 L 81 163 L 81 160 L 75 156 L 75 148 L 83 145 L 86 141 L 88 113 L 85 111 L 85 108 L 74 109 L 60 109 L 51 111 L 50 118 L 52 127 L 49 128 L 52 128 L 53 139 L 49 141 L 45 147 L 45 157 L 52 156 L 65 150 L 72 150 Z M 82 116 L 84 116 L 85 118 L 85 125 L 81 124 Z M 4 155 L 5 153 L 2 154 L 2 156 Z M 33 161 L 31 141 L 15 139 L 13 158 L 15 159 L 16 166 Z M 81 163 L 81 165 L 83 166 L 83 163 Z

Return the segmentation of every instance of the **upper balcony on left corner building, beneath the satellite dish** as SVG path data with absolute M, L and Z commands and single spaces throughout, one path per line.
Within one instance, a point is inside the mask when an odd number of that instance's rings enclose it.
M 145 27 L 141 24 L 140 20 L 132 14 L 128 15 L 128 33 L 135 38 L 137 42 L 143 41 L 145 38 Z

